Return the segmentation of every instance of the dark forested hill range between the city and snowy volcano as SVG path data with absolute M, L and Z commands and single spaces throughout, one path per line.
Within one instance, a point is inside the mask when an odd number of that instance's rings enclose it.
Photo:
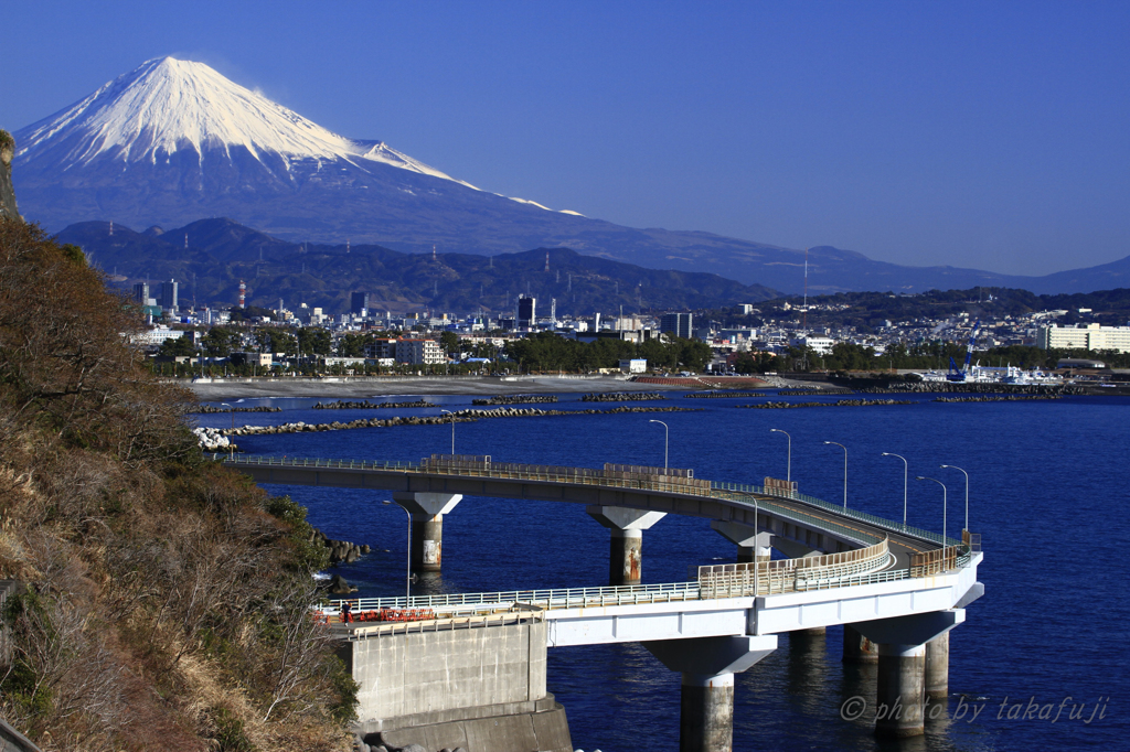
M 349 294 L 373 294 L 393 312 L 508 313 L 520 294 L 539 298 L 548 313 L 591 315 L 643 309 L 693 309 L 756 303 L 780 294 L 716 274 L 655 270 L 584 256 L 567 248 L 538 248 L 492 257 L 466 253 L 407 254 L 376 245 L 314 245 L 280 241 L 231 219 L 137 231 L 110 222 L 79 222 L 58 236 L 80 246 L 92 262 L 122 285 L 176 279 L 181 300 L 232 304 L 242 279 L 250 305 L 306 303 L 348 311 Z M 546 271 L 548 257 L 549 271 Z

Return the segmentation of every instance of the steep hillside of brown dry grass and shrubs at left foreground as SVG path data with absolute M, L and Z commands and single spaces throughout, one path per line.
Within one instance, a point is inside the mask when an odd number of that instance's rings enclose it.
M 347 749 L 304 510 L 205 462 L 81 253 L 0 221 L 0 714 L 45 750 Z

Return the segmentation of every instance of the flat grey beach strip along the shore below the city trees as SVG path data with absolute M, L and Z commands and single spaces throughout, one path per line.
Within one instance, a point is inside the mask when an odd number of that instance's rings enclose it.
M 615 376 L 386 376 L 366 378 L 232 378 L 195 381 L 203 402 L 254 397 L 374 397 L 418 394 L 547 394 L 659 392 L 686 386 L 637 384 Z

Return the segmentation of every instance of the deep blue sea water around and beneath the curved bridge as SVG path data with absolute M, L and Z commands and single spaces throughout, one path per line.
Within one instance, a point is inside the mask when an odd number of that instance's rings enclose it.
M 403 399 L 403 397 L 400 397 Z M 443 409 L 470 397 L 427 397 Z M 605 462 L 662 464 L 670 426 L 671 466 L 697 478 L 757 483 L 785 473 L 792 435 L 792 478 L 805 493 L 840 501 L 847 447 L 849 506 L 901 519 L 903 463 L 910 462 L 909 522 L 941 531 L 947 484 L 948 531 L 965 515 L 982 534 L 985 597 L 950 636 L 947 718 L 923 737 L 878 742 L 867 715 L 841 717 L 851 697 L 873 698 L 873 667 L 841 663 L 841 632 L 790 639 L 737 679 L 734 749 L 751 750 L 1076 750 L 1130 749 L 1130 546 L 1125 454 L 1130 400 L 937 403 L 867 408 L 745 410 L 755 399 L 666 402 L 701 408 L 664 414 L 567 416 L 479 420 L 455 426 L 455 451 L 495 461 L 599 467 Z M 397 397 L 390 397 L 397 400 Z M 562 409 L 589 405 L 562 395 Z M 812 397 L 794 401 L 810 402 Z M 236 416 L 237 423 L 438 414 L 427 410 L 311 410 L 316 400 L 271 403 L 280 413 Z M 227 426 L 223 414 L 200 423 Z M 449 426 L 244 437 L 249 453 L 356 460 L 418 461 L 451 448 Z M 368 543 L 374 553 L 337 568 L 360 596 L 399 595 L 405 587 L 407 517 L 386 495 L 310 487 L 269 487 L 310 509 L 331 537 Z M 734 548 L 709 521 L 668 516 L 644 533 L 647 583 L 686 579 L 688 566 L 732 561 Z M 580 505 L 467 498 L 445 517 L 440 576 L 414 593 L 481 592 L 607 584 L 608 532 Z M 603 752 L 671 749 L 678 740 L 679 676 L 638 645 L 554 648 L 549 690 L 565 706 L 574 746 Z M 1068 699 L 1069 698 L 1069 699 Z M 1097 705 L 1096 705 L 1097 703 Z M 1060 707 L 1063 709 L 1060 711 Z M 1096 712 L 1097 708 L 1097 712 Z M 1057 711 L 1059 718 L 1054 719 Z M 1075 712 L 1076 718 L 1070 718 Z M 976 717 L 973 715 L 976 712 Z M 1079 717 L 1081 714 L 1081 717 Z M 1044 716 L 1041 718 L 1041 716 Z M 1089 720 L 1089 723 L 1088 723 Z

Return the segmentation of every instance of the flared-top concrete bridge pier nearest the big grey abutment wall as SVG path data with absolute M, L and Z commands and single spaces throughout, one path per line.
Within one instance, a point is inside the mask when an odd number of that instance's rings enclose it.
M 679 752 L 731 752 L 733 674 L 776 649 L 776 635 L 698 637 L 644 642 L 653 656 L 683 674 Z

